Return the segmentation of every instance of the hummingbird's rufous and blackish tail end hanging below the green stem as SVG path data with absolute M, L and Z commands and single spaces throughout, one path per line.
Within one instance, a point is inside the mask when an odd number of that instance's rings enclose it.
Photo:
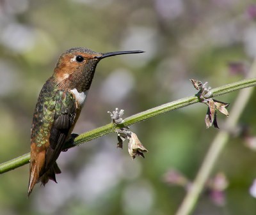
M 61 170 L 58 167 L 57 163 L 54 162 L 53 165 L 49 168 L 49 170 L 47 170 L 47 172 L 43 173 L 41 176 L 39 174 L 40 172 L 38 171 L 36 165 L 31 163 L 28 196 L 32 192 L 32 189 L 35 186 L 35 184 L 39 181 L 41 181 L 44 186 L 49 181 L 49 179 L 57 183 L 55 174 L 61 174 Z

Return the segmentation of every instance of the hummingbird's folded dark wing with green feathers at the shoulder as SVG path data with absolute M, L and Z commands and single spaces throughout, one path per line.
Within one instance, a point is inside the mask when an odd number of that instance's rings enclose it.
M 63 148 L 63 144 L 70 137 L 76 118 L 76 100 L 72 93 L 57 91 L 54 122 L 49 137 L 49 148 L 45 156 L 45 170 L 48 170 L 56 161 Z

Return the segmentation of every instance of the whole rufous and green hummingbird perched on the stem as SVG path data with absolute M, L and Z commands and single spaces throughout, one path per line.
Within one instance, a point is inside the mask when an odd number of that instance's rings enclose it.
M 37 182 L 45 184 L 61 170 L 56 160 L 70 137 L 86 101 L 95 68 L 101 59 L 142 50 L 100 53 L 70 48 L 58 59 L 53 75 L 45 82 L 36 103 L 31 126 L 28 195 Z

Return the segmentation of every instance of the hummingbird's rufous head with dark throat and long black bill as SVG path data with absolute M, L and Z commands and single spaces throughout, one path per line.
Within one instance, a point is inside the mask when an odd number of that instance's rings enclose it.
M 89 89 L 95 68 L 101 59 L 121 54 L 142 52 L 141 50 L 131 50 L 102 54 L 100 52 L 93 52 L 88 48 L 70 48 L 60 56 L 54 70 L 54 77 L 58 84 L 71 84 L 72 87 L 75 85 L 76 88 L 77 84 L 79 84 L 83 85 L 83 88 Z

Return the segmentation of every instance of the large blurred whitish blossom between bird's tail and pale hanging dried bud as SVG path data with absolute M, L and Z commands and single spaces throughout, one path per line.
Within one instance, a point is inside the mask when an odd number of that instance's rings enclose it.
M 111 150 L 114 148 L 111 148 Z M 87 204 L 97 204 L 97 199 L 114 188 L 121 179 L 121 171 L 116 165 L 119 153 L 108 148 L 99 151 L 79 173 L 76 182 L 76 195 Z

